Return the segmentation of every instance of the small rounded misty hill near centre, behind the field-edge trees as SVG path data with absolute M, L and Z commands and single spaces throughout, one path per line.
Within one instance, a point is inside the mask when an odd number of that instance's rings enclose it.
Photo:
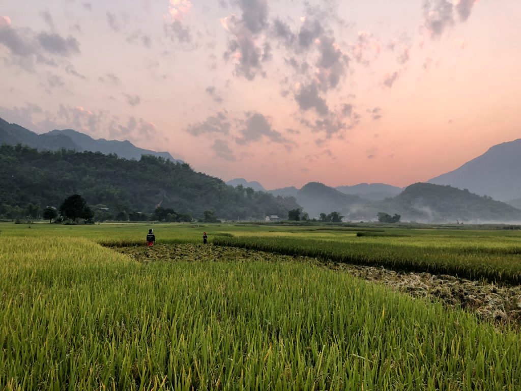
M 312 218 L 333 211 L 347 216 L 354 206 L 364 204 L 358 196 L 341 193 L 319 182 L 305 185 L 297 192 L 296 200 Z

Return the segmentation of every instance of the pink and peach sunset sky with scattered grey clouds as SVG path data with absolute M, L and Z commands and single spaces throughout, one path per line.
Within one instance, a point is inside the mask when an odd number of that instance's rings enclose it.
M 267 189 L 407 186 L 521 138 L 519 0 L 2 0 L 0 117 Z

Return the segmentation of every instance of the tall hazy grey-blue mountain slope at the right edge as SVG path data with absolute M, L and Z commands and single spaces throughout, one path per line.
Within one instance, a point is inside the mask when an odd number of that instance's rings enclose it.
M 521 139 L 494 145 L 456 170 L 429 180 L 500 201 L 521 198 Z

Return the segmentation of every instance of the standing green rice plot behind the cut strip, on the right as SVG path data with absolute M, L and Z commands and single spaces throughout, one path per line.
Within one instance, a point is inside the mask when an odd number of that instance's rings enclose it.
M 339 231 L 339 233 L 342 231 Z M 483 239 L 472 231 L 412 235 L 413 230 L 384 233 L 353 231 L 351 236 L 324 234 L 219 237 L 214 243 L 321 260 L 379 265 L 393 270 L 451 274 L 521 284 L 521 236 Z M 451 237 L 449 235 L 454 234 Z M 465 235 L 467 234 L 467 235 Z

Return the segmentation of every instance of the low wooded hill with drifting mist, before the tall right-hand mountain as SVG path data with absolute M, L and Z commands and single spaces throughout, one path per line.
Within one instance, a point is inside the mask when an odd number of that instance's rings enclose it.
M 391 200 L 373 205 L 380 212 L 398 213 L 402 220 L 418 222 L 521 222 L 521 210 L 488 196 L 451 186 L 418 183 Z

